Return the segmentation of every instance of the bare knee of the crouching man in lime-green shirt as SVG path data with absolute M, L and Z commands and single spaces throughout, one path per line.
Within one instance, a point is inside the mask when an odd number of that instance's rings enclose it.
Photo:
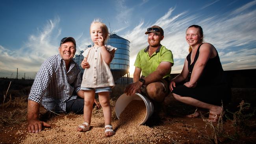
M 165 98 L 164 87 L 160 82 L 150 83 L 147 85 L 147 94 L 152 100 L 163 102 Z

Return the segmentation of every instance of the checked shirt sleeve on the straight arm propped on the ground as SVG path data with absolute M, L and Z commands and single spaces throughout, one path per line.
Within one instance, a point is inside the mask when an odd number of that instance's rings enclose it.
M 41 103 L 43 96 L 46 92 L 48 84 L 52 78 L 54 72 L 54 66 L 47 60 L 43 62 L 30 90 L 28 100 L 32 100 L 37 103 Z

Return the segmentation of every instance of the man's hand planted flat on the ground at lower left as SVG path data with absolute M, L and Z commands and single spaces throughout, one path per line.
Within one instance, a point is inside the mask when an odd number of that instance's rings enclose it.
M 51 125 L 40 120 L 30 120 L 28 121 L 28 132 L 29 133 L 38 133 L 42 131 L 43 127 L 51 127 Z

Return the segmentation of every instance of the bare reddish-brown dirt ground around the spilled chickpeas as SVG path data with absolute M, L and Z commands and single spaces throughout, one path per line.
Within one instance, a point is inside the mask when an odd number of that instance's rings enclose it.
M 237 103 L 236 103 L 237 104 Z M 215 143 L 214 133 L 211 126 L 206 126 L 206 122 L 202 118 L 187 118 L 186 114 L 191 114 L 195 111 L 195 107 L 180 103 L 169 96 L 165 100 L 166 105 L 166 115 L 159 118 L 158 116 L 152 116 L 148 122 L 147 126 L 157 127 L 164 132 L 168 133 L 169 139 L 162 140 L 160 143 L 175 143 L 175 144 L 209 144 Z M 230 104 L 228 107 L 231 110 L 235 110 Z M 239 105 L 239 103 L 237 104 Z M 236 105 L 236 106 L 237 106 Z M 5 109 L 5 114 L 13 111 L 14 109 Z M 0 110 L 2 115 L 3 111 Z M 232 114 L 226 114 L 232 117 Z M 51 120 L 63 118 L 64 114 L 60 116 L 55 116 Z M 81 115 L 77 115 L 81 116 Z M 245 130 L 239 131 L 238 135 L 235 135 L 237 131 L 232 126 L 233 122 L 223 118 L 223 132 L 217 133 L 217 142 L 225 144 L 255 144 L 256 143 L 256 118 L 253 116 L 249 119 L 247 127 Z M 215 130 L 217 124 L 214 124 Z M 52 126 L 54 128 L 55 126 Z M 24 139 L 26 136 L 26 122 L 23 122 L 15 126 L 4 126 L 0 127 L 0 144 L 16 144 L 20 143 L 20 140 Z M 220 135 L 218 135 L 220 134 Z

